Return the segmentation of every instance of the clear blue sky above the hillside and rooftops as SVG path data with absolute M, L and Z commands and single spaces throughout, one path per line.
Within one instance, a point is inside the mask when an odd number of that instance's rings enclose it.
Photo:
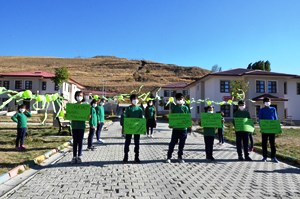
M 300 0 L 0 1 L 0 56 L 113 55 L 300 75 Z

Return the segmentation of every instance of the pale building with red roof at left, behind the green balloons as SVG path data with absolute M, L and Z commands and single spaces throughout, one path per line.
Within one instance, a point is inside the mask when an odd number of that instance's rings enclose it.
M 54 94 L 59 93 L 68 102 L 75 102 L 74 94 L 77 90 L 84 89 L 84 86 L 69 79 L 64 82 L 61 87 L 56 85 L 52 78 L 55 75 L 44 71 L 34 72 L 12 72 L 0 74 L 0 87 L 5 87 L 8 90 L 24 91 L 31 90 L 33 94 Z M 0 95 L 0 104 L 8 99 L 7 94 Z M 32 107 L 35 101 L 24 101 L 28 107 Z M 13 100 L 4 110 L 14 111 L 17 109 L 17 102 Z M 50 106 L 50 110 L 52 107 Z

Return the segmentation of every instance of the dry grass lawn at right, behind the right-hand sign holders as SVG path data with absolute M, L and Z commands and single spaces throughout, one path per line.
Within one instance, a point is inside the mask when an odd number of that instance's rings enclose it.
M 278 155 L 289 156 L 292 159 L 297 159 L 298 165 L 300 165 L 300 129 L 282 129 L 282 134 L 276 136 L 276 149 Z M 202 132 L 202 129 L 199 129 Z M 226 124 L 225 139 L 235 143 L 235 131 L 232 128 L 232 124 Z M 256 128 L 254 135 L 254 146 L 261 150 L 261 133 L 260 129 Z M 268 147 L 268 151 L 271 149 Z M 295 163 L 295 161 L 293 161 Z

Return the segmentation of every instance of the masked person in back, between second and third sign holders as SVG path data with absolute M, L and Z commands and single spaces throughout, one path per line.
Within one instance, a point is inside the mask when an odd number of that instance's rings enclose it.
M 153 137 L 153 128 L 156 127 L 156 109 L 153 106 L 153 100 L 149 100 L 147 102 L 147 107 L 145 109 L 145 118 L 147 121 L 147 137 Z

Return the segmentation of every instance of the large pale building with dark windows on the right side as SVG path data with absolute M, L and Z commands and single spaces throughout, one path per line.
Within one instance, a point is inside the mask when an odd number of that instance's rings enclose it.
M 232 99 L 230 92 L 230 81 L 232 80 L 244 80 L 249 83 L 245 99 L 252 118 L 257 118 L 259 109 L 263 107 L 263 98 L 269 97 L 272 100 L 271 106 L 277 109 L 281 121 L 290 119 L 294 123 L 300 124 L 300 112 L 295 109 L 300 100 L 300 77 L 298 75 L 237 68 L 210 73 L 191 84 L 172 89 L 175 91 L 185 90 L 191 99 L 210 99 L 222 102 Z M 165 87 L 163 88 L 165 90 Z M 206 104 L 194 103 L 191 106 L 192 117 L 198 119 Z M 238 108 L 235 105 L 226 104 L 214 106 L 215 111 L 224 112 L 226 119 L 233 119 L 233 113 Z

